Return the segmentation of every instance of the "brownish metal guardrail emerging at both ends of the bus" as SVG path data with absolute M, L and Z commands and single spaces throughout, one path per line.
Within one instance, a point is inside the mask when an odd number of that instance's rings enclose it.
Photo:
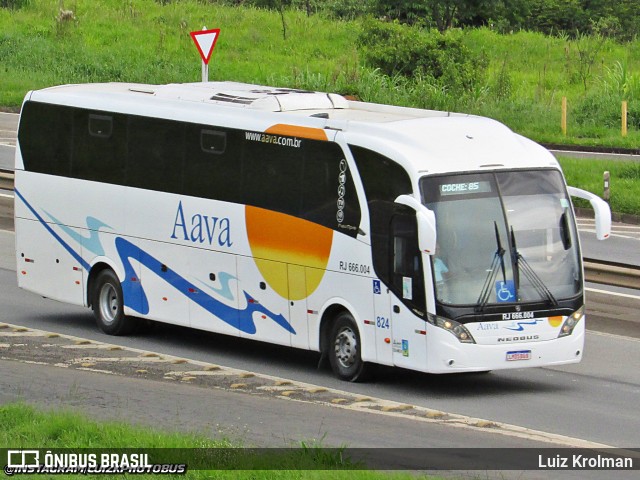
M 0 169 L 0 189 L 13 190 L 13 171 Z M 640 267 L 584 259 L 585 280 L 591 283 L 640 290 Z

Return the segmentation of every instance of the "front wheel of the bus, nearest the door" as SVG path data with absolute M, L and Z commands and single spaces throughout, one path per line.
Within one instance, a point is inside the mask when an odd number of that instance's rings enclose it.
M 339 314 L 329 333 L 327 355 L 333 373 L 341 380 L 361 382 L 367 378 L 368 366 L 362 361 L 360 333 L 353 317 Z

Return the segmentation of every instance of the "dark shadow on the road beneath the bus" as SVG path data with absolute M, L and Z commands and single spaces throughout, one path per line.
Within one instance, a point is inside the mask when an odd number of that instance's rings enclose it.
M 160 354 L 181 356 L 232 368 L 287 379 L 319 383 L 322 386 L 349 391 L 364 390 L 368 394 L 384 395 L 383 391 L 424 397 L 489 398 L 501 394 L 531 394 L 567 392 L 572 386 L 561 381 L 561 372 L 548 375 L 545 369 L 515 369 L 495 372 L 426 374 L 397 367 L 373 366 L 372 375 L 361 387 L 336 379 L 328 366 L 319 366 L 320 354 L 232 337 L 160 322 L 140 320 L 136 331 L 127 337 L 102 334 L 90 310 L 32 314 L 43 330 L 122 345 Z M 16 323 L 20 323 L 19 319 Z M 35 325 L 34 325 L 35 326 Z M 64 326 L 64 328 L 61 328 Z

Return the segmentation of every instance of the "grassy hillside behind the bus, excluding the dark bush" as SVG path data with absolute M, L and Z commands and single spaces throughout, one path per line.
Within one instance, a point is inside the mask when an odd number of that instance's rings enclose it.
M 188 33 L 221 34 L 211 80 L 235 80 L 355 94 L 365 101 L 486 115 L 540 142 L 640 145 L 640 41 L 571 40 L 539 33 L 469 29 L 463 42 L 485 58 L 477 86 L 463 95 L 421 79 L 389 78 L 364 64 L 362 21 L 277 12 L 202 0 L 29 0 L 0 9 L 0 105 L 20 105 L 28 90 L 76 83 L 200 80 Z M 596 52 L 588 75 L 580 52 Z M 586 89 L 585 89 L 586 82 Z M 568 97 L 569 135 L 560 131 Z M 620 101 L 629 101 L 629 135 L 620 135 Z

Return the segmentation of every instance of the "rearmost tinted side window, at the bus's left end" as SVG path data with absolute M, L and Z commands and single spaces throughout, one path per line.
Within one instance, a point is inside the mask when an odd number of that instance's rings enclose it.
M 72 128 L 70 107 L 25 103 L 18 131 L 25 169 L 68 176 Z

